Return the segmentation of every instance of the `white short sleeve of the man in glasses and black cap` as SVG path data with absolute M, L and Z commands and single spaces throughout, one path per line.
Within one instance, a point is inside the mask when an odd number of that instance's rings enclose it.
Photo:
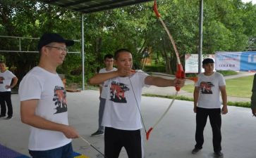
M 40 99 L 42 93 L 42 84 L 40 84 L 39 79 L 35 76 L 26 76 L 20 82 L 18 89 L 18 95 L 20 96 L 20 101 Z

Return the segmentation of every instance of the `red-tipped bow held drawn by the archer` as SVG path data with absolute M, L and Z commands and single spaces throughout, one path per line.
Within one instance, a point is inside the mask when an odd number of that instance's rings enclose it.
M 176 48 L 176 44 L 173 40 L 173 37 L 171 37 L 171 34 L 169 32 L 169 29 L 167 29 L 164 21 L 161 19 L 161 15 L 159 14 L 158 10 L 157 10 L 157 0 L 154 0 L 154 13 L 157 15 L 157 18 L 159 19 L 159 21 L 161 22 L 161 25 L 163 25 L 166 33 L 168 34 L 169 39 L 171 40 L 171 44 L 173 45 L 173 49 L 176 53 L 176 58 L 177 58 L 177 72 L 176 72 L 176 78 L 178 79 L 184 79 L 185 78 L 185 72 L 183 70 L 183 66 L 181 65 L 181 60 L 180 60 L 180 55 L 178 55 L 178 50 Z M 150 129 L 147 131 L 146 136 L 147 136 L 147 140 L 150 138 L 150 133 L 152 132 L 152 130 L 154 129 L 155 126 L 157 126 L 157 124 L 161 121 L 161 119 L 164 118 L 164 116 L 166 115 L 166 113 L 169 111 L 171 105 L 173 105 L 174 100 L 176 99 L 176 96 L 178 95 L 178 91 L 180 91 L 181 88 L 176 86 L 176 93 L 174 95 L 173 100 L 171 101 L 171 104 L 169 105 L 169 107 L 166 109 L 166 111 L 164 112 L 164 114 L 161 115 L 161 117 L 157 120 L 157 122 L 154 124 L 154 126 L 150 127 Z

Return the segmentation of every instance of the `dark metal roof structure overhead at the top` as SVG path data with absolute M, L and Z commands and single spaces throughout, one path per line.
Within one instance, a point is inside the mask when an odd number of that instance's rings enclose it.
M 93 13 L 112 8 L 140 4 L 152 0 L 39 0 L 45 4 L 68 8 L 71 11 L 81 13 Z

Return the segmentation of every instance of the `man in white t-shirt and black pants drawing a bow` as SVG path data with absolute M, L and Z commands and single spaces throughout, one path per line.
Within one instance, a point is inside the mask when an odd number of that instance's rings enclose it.
M 104 133 L 104 152 L 106 157 L 118 158 L 125 147 L 129 158 L 142 158 L 143 147 L 140 129 L 140 100 L 142 87 L 178 86 L 184 79 L 163 79 L 145 73 L 131 71 L 133 57 L 127 49 L 119 49 L 114 54 L 117 71 L 96 74 L 90 84 L 106 83 L 106 104 L 102 119 Z

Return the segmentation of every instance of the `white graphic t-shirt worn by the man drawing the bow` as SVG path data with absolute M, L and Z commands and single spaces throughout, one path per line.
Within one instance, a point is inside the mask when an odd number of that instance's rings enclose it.
M 142 87 L 145 86 L 147 76 L 145 73 L 135 73 L 130 76 L 130 79 L 116 77 L 106 82 L 108 85 L 102 126 L 122 130 L 142 129 L 138 108 L 140 108 Z

